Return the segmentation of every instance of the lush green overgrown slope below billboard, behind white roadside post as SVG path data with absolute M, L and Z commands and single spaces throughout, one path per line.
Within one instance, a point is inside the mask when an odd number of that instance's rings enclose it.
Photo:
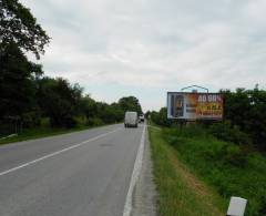
M 218 141 L 198 126 L 183 131 L 164 128 L 161 134 L 152 131 L 151 138 L 154 143 L 156 140 L 164 143 L 163 148 L 175 154 L 201 182 L 212 186 L 224 203 L 228 203 L 231 196 L 241 196 L 248 199 L 246 216 L 266 215 L 264 154 L 247 153 L 238 145 Z

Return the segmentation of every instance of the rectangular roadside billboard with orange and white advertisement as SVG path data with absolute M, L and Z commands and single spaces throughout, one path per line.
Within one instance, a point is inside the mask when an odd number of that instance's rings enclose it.
M 167 92 L 167 119 L 222 120 L 223 112 L 219 93 Z

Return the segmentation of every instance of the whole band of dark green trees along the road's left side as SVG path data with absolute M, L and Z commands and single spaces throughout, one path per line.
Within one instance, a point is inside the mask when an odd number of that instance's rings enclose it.
M 39 60 L 50 37 L 17 0 L 0 1 L 0 136 L 41 126 L 74 127 L 121 122 L 126 110 L 142 113 L 134 96 L 108 104 L 84 94 L 78 83 L 44 75 Z

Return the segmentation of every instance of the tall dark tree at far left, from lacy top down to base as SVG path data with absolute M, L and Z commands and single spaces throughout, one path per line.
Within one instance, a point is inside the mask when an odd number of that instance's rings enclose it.
M 23 52 L 31 51 L 39 59 L 49 40 L 29 9 L 18 0 L 0 0 L 1 125 L 16 121 L 16 125 L 22 126 L 37 120 L 35 79 L 42 74 L 42 68 L 30 62 Z

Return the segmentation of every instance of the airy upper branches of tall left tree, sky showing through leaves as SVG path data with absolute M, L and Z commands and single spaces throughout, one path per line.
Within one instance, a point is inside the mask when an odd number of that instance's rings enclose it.
M 44 53 L 44 45 L 49 41 L 50 38 L 37 23 L 28 8 L 18 0 L 0 1 L 0 43 L 2 49 L 10 43 L 16 43 L 19 49 L 31 51 L 37 59 L 40 59 L 40 54 Z

